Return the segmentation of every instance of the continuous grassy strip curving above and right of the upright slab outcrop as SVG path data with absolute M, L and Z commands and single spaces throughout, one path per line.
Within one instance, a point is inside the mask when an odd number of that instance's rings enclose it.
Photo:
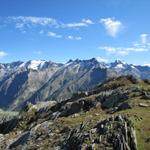
M 138 149 L 149 150 L 150 142 L 147 142 L 147 139 L 150 138 L 150 107 L 134 107 L 130 110 L 117 112 L 114 115 L 117 114 L 127 115 L 133 121 L 137 135 Z M 112 115 L 106 114 L 100 108 L 94 108 L 87 113 L 81 114 L 81 116 L 59 118 L 55 124 L 61 130 L 66 126 L 76 127 L 80 123 L 85 122 L 88 124 L 89 129 L 91 129 L 96 122 L 109 118 L 110 116 Z

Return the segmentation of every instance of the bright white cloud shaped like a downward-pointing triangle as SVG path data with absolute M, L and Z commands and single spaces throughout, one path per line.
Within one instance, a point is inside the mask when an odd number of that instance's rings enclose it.
M 116 37 L 123 28 L 122 22 L 114 18 L 103 18 L 100 20 L 100 23 L 104 25 L 107 33 L 112 37 Z

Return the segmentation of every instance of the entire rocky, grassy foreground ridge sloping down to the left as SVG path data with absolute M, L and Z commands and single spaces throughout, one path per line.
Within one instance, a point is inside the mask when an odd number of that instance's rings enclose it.
M 149 95 L 148 81 L 127 76 L 62 102 L 28 103 L 0 123 L 1 149 L 148 150 Z

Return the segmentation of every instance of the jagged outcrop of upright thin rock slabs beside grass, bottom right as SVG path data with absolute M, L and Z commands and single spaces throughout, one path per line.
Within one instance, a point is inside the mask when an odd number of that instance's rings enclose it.
M 111 117 L 96 125 L 101 144 L 114 150 L 137 150 L 136 134 L 132 123 L 124 116 Z

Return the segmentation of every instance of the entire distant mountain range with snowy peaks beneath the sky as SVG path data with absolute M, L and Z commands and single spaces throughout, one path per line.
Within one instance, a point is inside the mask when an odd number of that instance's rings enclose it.
M 27 102 L 62 101 L 120 75 L 149 79 L 150 67 L 121 61 L 105 64 L 95 58 L 66 64 L 35 60 L 0 64 L 0 107 L 18 109 Z

